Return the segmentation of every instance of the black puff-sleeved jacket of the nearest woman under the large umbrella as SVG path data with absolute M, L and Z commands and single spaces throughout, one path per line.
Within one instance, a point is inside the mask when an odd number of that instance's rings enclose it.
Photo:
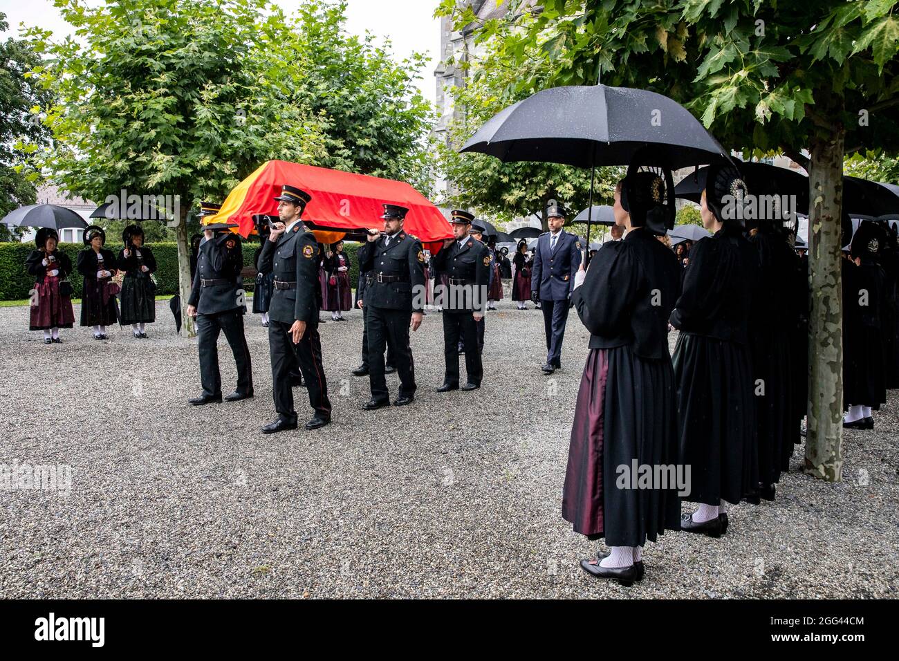
M 577 314 L 591 349 L 630 344 L 641 358 L 668 359 L 668 316 L 681 295 L 681 272 L 671 249 L 645 228 L 608 242 L 574 290 Z

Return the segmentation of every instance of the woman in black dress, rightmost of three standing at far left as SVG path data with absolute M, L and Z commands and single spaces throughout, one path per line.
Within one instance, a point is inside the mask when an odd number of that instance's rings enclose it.
M 125 272 L 121 281 L 122 326 L 131 326 L 137 338 L 147 339 L 147 324 L 156 321 L 156 282 L 150 276 L 156 272 L 156 257 L 144 246 L 144 230 L 129 225 L 122 232 L 125 245 L 119 253 L 118 266 Z

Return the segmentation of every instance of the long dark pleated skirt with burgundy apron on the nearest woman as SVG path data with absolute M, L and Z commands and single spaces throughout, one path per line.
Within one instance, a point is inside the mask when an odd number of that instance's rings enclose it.
M 676 478 L 668 488 L 637 487 L 640 467 L 677 460 L 671 361 L 636 356 L 630 346 L 592 349 L 577 395 L 562 516 L 574 531 L 610 546 L 643 546 L 680 530 Z

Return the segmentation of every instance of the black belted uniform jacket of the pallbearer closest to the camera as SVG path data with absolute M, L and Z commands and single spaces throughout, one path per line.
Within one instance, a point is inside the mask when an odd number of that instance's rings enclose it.
M 318 324 L 318 249 L 316 237 L 301 222 L 284 232 L 278 241 L 267 240 L 259 255 L 259 270 L 274 273 L 275 282 L 296 282 L 294 289 L 271 291 L 269 317 L 292 325 L 305 321 Z

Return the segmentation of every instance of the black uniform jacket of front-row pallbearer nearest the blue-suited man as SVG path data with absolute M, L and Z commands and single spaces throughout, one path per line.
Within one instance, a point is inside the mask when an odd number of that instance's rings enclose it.
M 490 251 L 487 246 L 471 237 L 461 246 L 454 240 L 451 246 L 441 248 L 434 255 L 434 268 L 449 277 L 449 290 L 442 299 L 444 312 L 485 310 L 491 274 Z M 471 295 L 474 291 L 477 292 L 476 300 Z

